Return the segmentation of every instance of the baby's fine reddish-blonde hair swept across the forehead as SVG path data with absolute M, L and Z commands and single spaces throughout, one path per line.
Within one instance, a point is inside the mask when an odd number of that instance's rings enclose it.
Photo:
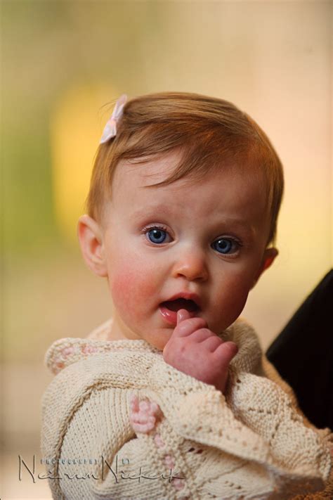
M 117 135 L 98 148 L 86 200 L 88 214 L 100 221 L 120 160 L 140 163 L 176 149 L 182 153 L 180 162 L 155 186 L 188 175 L 202 179 L 227 164 L 237 165 L 244 174 L 263 172 L 270 212 L 268 244 L 275 241 L 284 185 L 277 153 L 249 115 L 228 101 L 200 94 L 164 92 L 126 103 Z

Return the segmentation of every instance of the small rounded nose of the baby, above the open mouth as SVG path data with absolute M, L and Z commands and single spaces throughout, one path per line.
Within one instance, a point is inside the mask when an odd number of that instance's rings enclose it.
M 204 252 L 188 249 L 179 255 L 172 270 L 173 276 L 183 276 L 189 281 L 205 280 L 208 277 L 207 262 Z

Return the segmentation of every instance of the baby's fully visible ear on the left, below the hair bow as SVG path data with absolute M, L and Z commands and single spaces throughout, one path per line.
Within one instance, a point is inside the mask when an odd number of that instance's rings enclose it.
M 77 223 L 77 236 L 89 269 L 98 276 L 107 276 L 103 232 L 98 223 L 89 215 L 82 215 Z

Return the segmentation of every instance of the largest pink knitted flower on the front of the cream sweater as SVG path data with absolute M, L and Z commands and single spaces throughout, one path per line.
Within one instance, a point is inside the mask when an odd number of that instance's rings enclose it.
M 155 428 L 157 420 L 161 414 L 159 405 L 149 400 L 139 402 L 136 395 L 131 395 L 131 424 L 136 432 L 148 434 Z

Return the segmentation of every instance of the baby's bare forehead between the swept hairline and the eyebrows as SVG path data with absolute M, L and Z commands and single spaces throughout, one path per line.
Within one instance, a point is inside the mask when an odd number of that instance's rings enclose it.
M 145 209 L 159 212 L 169 206 L 176 212 L 186 206 L 192 207 L 193 216 L 200 217 L 203 213 L 209 216 L 226 209 L 237 215 L 266 209 L 262 177 L 244 175 L 240 169 L 225 167 L 201 175 L 190 172 L 168 182 L 175 169 L 175 160 L 168 157 L 145 164 L 123 162 L 117 167 L 112 186 L 112 205 L 122 206 L 126 213 Z

